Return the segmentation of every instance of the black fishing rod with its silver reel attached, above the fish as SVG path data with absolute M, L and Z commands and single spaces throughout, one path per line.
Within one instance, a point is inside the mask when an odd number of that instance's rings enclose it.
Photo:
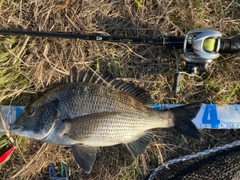
M 240 36 L 224 38 L 222 33 L 209 29 L 196 29 L 189 31 L 185 37 L 166 36 L 159 39 L 112 37 L 104 35 L 85 35 L 73 33 L 54 33 L 22 30 L 0 30 L 2 35 L 25 35 L 33 37 L 65 38 L 98 42 L 119 42 L 127 44 L 161 45 L 167 49 L 181 49 L 181 59 L 186 62 L 184 70 L 177 69 L 174 75 L 172 90 L 180 91 L 181 74 L 202 75 L 207 72 L 207 66 L 220 56 L 220 53 L 240 52 Z M 178 62 L 177 62 L 178 67 Z

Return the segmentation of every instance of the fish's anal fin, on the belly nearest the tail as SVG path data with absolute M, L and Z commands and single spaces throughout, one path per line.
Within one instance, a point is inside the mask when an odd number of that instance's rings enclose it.
M 149 131 L 145 132 L 137 140 L 126 144 L 127 149 L 130 151 L 132 156 L 144 153 L 147 145 L 150 143 L 153 134 Z

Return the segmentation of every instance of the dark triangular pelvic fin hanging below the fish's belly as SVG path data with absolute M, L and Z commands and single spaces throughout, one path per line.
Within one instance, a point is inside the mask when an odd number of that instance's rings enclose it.
M 96 159 L 97 149 L 86 145 L 71 146 L 72 154 L 77 164 L 86 172 L 90 173 Z

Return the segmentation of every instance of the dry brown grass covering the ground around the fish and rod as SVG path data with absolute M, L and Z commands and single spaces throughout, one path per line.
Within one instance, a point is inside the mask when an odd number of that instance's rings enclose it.
M 65 8 L 56 10 L 58 5 L 65 3 L 64 0 L 2 0 L 0 28 L 144 38 L 184 36 L 195 28 L 215 29 L 226 36 L 240 32 L 238 0 L 141 2 L 142 7 L 132 0 L 70 1 Z M 36 98 L 35 92 L 58 82 L 73 66 L 78 69 L 91 67 L 100 73 L 133 81 L 149 91 L 157 103 L 240 101 L 238 55 L 221 56 L 210 65 L 209 73 L 204 77 L 184 76 L 182 91 L 174 94 L 171 86 L 176 68 L 175 55 L 159 46 L 25 36 L 0 38 L 0 73 L 6 77 L 0 79 L 0 99 L 5 104 L 26 105 Z M 69 149 L 19 139 L 17 151 L 0 167 L 0 178 L 46 179 L 49 163 L 59 165 L 63 162 L 70 170 L 70 179 L 144 179 L 158 164 L 213 147 L 215 143 L 231 142 L 239 131 L 204 130 L 201 142 L 170 130 L 156 134 L 146 153 L 136 161 L 122 146 L 102 148 L 90 175 L 77 169 Z

